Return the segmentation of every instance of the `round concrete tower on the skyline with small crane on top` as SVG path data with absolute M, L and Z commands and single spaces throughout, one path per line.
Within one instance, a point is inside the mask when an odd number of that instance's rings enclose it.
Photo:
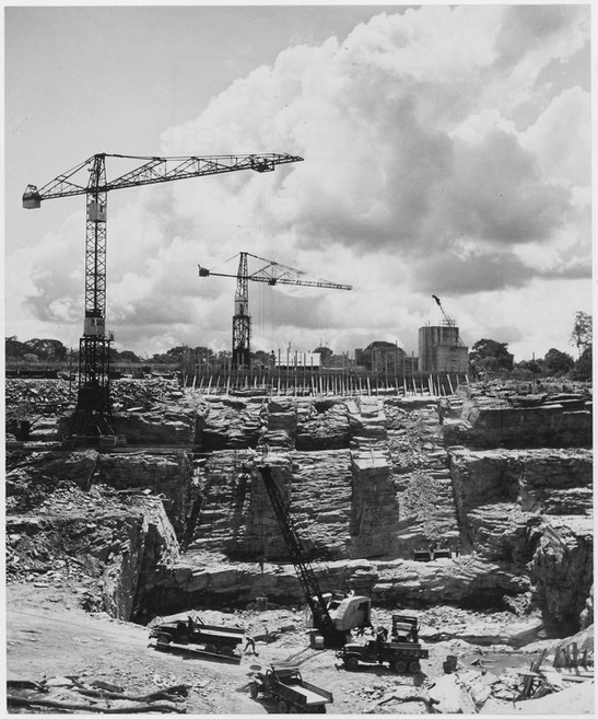
M 454 324 L 420 327 L 419 352 L 420 372 L 466 374 L 468 371 L 469 350 Z

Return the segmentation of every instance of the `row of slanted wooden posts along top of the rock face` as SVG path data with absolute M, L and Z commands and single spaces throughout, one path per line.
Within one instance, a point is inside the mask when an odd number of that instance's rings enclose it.
M 293 396 L 394 395 L 446 396 L 459 384 L 469 383 L 467 374 L 352 374 L 340 372 L 301 373 L 284 371 L 251 372 L 243 370 L 220 373 L 184 374 L 183 386 L 204 394 L 258 393 Z

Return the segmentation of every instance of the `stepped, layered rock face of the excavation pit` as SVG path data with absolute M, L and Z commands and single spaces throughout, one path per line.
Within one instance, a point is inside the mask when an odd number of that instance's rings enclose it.
M 110 612 L 243 604 L 261 593 L 301 600 L 258 471 L 267 462 L 328 588 L 361 582 L 387 607 L 505 608 L 532 596 L 553 635 L 589 621 L 587 409 L 565 401 L 509 407 L 469 391 L 441 411 L 425 396 L 242 399 L 157 390 L 156 404 L 142 385 L 124 385 L 118 411 L 132 428 L 129 442 L 188 448 L 8 457 L 13 519 L 46 517 L 46 497 L 67 485 L 83 494 L 107 486 L 122 502 L 144 494 L 161 506 L 117 512 L 119 524 L 106 519 L 97 545 L 83 533 L 109 567 L 103 601 Z M 460 556 L 413 561 L 415 549 L 438 542 Z

